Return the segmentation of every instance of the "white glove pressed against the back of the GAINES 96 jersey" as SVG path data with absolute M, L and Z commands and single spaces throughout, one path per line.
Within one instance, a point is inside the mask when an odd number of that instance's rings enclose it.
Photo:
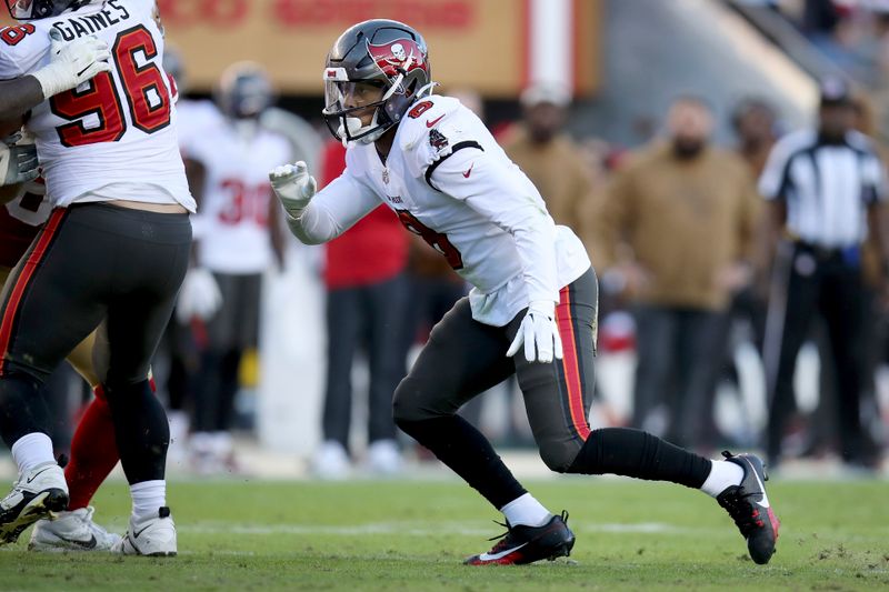
M 110 72 L 111 51 L 96 36 L 81 37 L 70 43 L 62 40 L 58 29 L 50 29 L 52 39 L 49 63 L 31 72 L 43 89 L 43 99 L 77 88 L 99 72 Z

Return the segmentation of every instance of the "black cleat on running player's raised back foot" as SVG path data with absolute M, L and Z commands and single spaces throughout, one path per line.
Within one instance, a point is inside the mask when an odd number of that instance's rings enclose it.
M 766 496 L 766 481 L 769 475 L 760 458 L 755 454 L 736 456 L 725 451 L 722 455 L 728 462 L 743 469 L 743 480 L 740 485 L 726 488 L 716 501 L 726 509 L 747 540 L 750 559 L 765 565 L 775 553 L 775 542 L 781 525 Z

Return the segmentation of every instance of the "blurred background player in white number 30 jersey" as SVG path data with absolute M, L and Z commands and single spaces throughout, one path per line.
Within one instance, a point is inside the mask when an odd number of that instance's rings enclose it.
M 192 389 L 190 441 L 192 464 L 201 473 L 237 469 L 230 430 L 238 368 L 243 353 L 258 344 L 262 277 L 283 263 L 280 207 L 268 171 L 289 160 L 292 151 L 287 138 L 260 124 L 273 98 L 271 81 L 259 64 L 230 66 L 214 96 L 223 117 L 186 147 L 200 214 L 196 265 L 182 285 L 177 314 L 180 320 L 200 317 L 206 328 Z M 219 310 L 206 313 L 199 305 L 206 301 L 199 287 L 218 287 Z

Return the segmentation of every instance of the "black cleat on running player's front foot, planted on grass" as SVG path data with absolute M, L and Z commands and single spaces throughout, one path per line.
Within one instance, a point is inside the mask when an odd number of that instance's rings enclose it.
M 568 512 L 552 516 L 542 526 L 510 526 L 497 544 L 487 553 L 472 555 L 463 563 L 467 565 L 522 565 L 541 559 L 549 561 L 568 556 L 575 546 L 575 533 L 568 528 Z

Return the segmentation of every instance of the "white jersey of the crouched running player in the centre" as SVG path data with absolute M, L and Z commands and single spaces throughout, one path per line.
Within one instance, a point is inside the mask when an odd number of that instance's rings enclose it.
M 353 143 L 346 161 L 312 208 L 339 232 L 378 200 L 389 205 L 475 287 L 479 322 L 502 327 L 532 301 L 558 302 L 590 267 L 580 240 L 553 223 L 533 183 L 457 99 L 414 103 L 384 164 L 373 144 Z

